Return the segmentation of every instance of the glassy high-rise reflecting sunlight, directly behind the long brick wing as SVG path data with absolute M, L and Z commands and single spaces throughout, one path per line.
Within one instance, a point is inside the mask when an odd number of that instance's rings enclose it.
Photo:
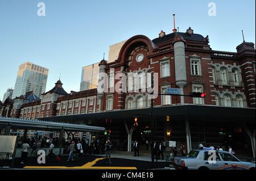
M 98 71 L 100 70 L 100 67 L 98 66 L 98 64 L 100 64 L 100 62 L 97 62 L 96 64 L 84 66 L 82 68 L 80 91 L 97 88 Z

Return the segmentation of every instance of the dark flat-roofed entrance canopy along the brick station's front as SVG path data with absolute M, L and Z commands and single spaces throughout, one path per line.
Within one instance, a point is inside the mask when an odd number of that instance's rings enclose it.
M 141 142 L 150 140 L 150 108 L 136 110 L 117 110 L 109 112 L 86 113 L 71 116 L 46 117 L 65 123 L 86 123 L 111 129 L 114 142 L 127 140 L 127 151 L 131 151 L 131 140 Z M 213 146 L 236 145 L 234 138 L 242 135 L 241 144 L 250 144 L 255 157 L 255 109 L 217 106 L 178 105 L 155 107 L 155 140 L 187 143 L 187 150 L 197 148 L 199 142 Z M 166 116 L 170 116 L 170 121 Z M 138 127 L 133 127 L 134 118 Z M 170 132 L 170 135 L 167 135 Z M 141 134 L 141 136 L 139 136 Z M 145 138 L 146 137 L 146 138 Z M 232 137 L 233 140 L 232 140 Z M 168 146 L 168 145 L 167 145 Z M 179 145 L 178 145 L 179 146 Z

